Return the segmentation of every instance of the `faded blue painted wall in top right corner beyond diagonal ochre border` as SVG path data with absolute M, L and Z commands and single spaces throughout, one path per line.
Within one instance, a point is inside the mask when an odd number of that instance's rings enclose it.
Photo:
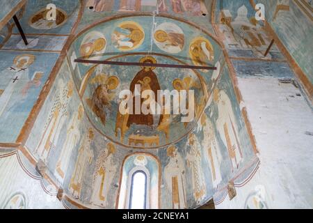
M 313 84 L 313 5 L 310 1 L 259 1 L 266 7 L 266 21 Z

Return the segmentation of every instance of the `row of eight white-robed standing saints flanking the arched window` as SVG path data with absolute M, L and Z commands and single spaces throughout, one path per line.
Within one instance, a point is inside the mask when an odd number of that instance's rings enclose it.
M 63 86 L 58 91 L 56 98 L 54 99 L 54 106 L 51 109 L 49 118 L 45 125 L 45 132 L 42 140 L 36 148 L 36 153 L 47 162 L 49 151 L 52 147 L 55 147 L 58 142 L 58 137 L 61 134 L 61 128 L 67 122 L 67 104 L 72 97 L 72 82 L 63 84 L 58 83 L 59 86 Z M 62 85 L 63 84 L 63 85 Z M 239 145 L 238 132 L 234 126 L 234 114 L 232 112 L 232 105 L 230 99 L 224 91 L 214 91 L 214 102 L 218 105 L 219 116 L 216 120 L 218 132 L 223 143 L 226 145 L 229 157 L 232 164 L 232 171 L 238 169 L 239 163 L 242 160 L 243 154 Z M 222 112 L 222 111 L 229 112 Z M 83 119 L 83 106 L 80 105 L 78 112 L 72 116 L 67 126 L 67 135 L 63 150 L 58 159 L 56 170 L 54 175 L 63 182 L 66 174 L 66 169 L 70 164 L 70 157 L 74 148 L 79 146 L 79 152 L 77 161 L 75 164 L 74 172 L 70 180 L 69 190 L 73 197 L 79 199 L 81 194 L 81 188 L 83 183 L 83 176 L 86 174 L 86 168 L 95 159 L 91 144 L 95 137 L 93 128 L 89 128 L 88 132 L 83 136 L 81 143 L 81 132 L 79 131 L 79 125 Z M 195 134 L 204 134 L 206 137 L 202 141 L 198 141 Z M 222 180 L 220 173 L 220 163 L 222 162 L 222 155 L 220 154 L 220 147 L 214 134 L 214 126 L 211 123 L 207 114 L 202 114 L 198 123 L 198 130 L 195 134 L 188 135 L 188 145 L 190 149 L 186 156 L 186 166 L 191 169 L 192 186 L 194 197 L 196 201 L 201 201 L 206 195 L 206 186 L 204 173 L 202 169 L 202 152 L 206 162 L 209 163 L 209 169 L 211 170 L 211 177 L 214 187 L 218 187 L 218 184 Z M 202 151 L 203 150 L 203 151 Z M 106 197 L 109 194 L 111 184 L 113 183 L 113 177 L 116 171 L 118 171 L 118 164 L 116 164 L 114 158 L 116 148 L 115 144 L 109 142 L 106 144 L 106 149 L 97 157 L 95 172 L 93 174 L 93 193 L 90 199 L 90 203 L 95 206 L 108 205 Z M 173 194 L 172 207 L 173 208 L 186 208 L 186 170 L 184 159 L 178 152 L 176 146 L 168 146 L 168 157 L 170 160 L 164 169 L 164 181 L 168 190 Z

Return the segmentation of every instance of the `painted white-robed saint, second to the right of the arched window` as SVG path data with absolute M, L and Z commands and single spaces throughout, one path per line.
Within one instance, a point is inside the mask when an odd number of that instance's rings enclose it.
M 191 168 L 193 195 L 195 201 L 199 203 L 206 195 L 206 187 L 201 164 L 201 148 L 194 134 L 189 136 L 188 145 L 191 146 L 191 149 L 186 156 L 186 160 L 188 167 Z

